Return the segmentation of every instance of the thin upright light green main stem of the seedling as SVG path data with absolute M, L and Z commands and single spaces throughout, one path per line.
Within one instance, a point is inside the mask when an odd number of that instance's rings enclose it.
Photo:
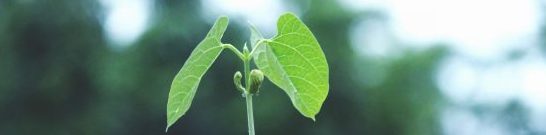
M 248 119 L 248 134 L 254 135 L 254 110 L 252 110 L 252 93 L 249 92 L 250 90 L 250 59 L 252 56 L 249 55 L 248 51 L 243 52 L 244 59 L 244 72 L 245 72 L 245 98 L 246 98 L 246 113 L 247 113 L 247 119 Z

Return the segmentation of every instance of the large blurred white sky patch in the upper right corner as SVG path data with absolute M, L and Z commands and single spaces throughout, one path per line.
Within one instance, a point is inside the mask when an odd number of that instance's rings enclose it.
M 494 60 L 540 27 L 536 0 L 341 0 L 354 10 L 388 15 L 397 38 L 412 45 L 454 44 L 461 54 Z

